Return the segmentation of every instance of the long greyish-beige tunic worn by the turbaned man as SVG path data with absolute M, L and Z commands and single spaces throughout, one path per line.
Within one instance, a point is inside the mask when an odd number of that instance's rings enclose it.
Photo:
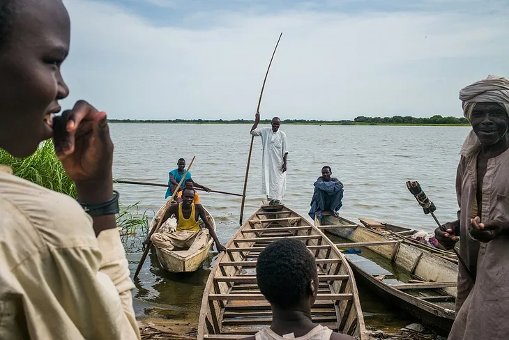
M 476 217 L 477 153 L 462 157 L 457 169 L 459 254 L 476 276 L 472 284 L 459 265 L 456 319 L 449 339 L 509 339 L 509 238 L 484 243 L 469 236 Z M 483 180 L 482 222 L 509 223 L 509 149 L 487 162 Z

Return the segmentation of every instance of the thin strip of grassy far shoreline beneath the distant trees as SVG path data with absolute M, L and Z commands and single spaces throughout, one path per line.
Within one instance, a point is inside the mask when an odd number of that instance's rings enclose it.
M 198 121 L 124 121 L 117 119 L 109 119 L 108 123 L 110 124 L 192 124 L 192 125 L 218 125 L 218 124 L 234 124 L 234 125 L 252 125 L 252 122 L 198 122 Z M 261 121 L 261 124 L 268 124 L 270 122 Z M 338 126 L 364 126 L 364 125 L 381 125 L 381 126 L 471 126 L 470 124 L 425 124 L 425 123 L 360 123 L 360 122 L 351 122 L 351 123 L 336 123 L 336 122 L 325 122 L 325 123 L 294 123 L 294 122 L 285 122 L 282 121 L 283 125 L 338 125 Z

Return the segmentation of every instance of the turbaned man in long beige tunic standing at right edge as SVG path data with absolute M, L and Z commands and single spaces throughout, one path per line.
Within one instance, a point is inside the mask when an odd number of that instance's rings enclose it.
M 459 236 L 457 339 L 509 339 L 509 79 L 489 75 L 459 92 L 472 130 L 457 168 L 458 219 L 435 230 L 448 249 Z

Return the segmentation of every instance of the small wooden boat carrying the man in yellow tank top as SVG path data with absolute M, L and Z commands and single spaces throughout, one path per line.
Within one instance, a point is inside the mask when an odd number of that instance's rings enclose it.
M 165 216 L 166 210 L 169 206 L 172 205 L 172 202 L 167 201 L 164 206 L 162 206 L 158 212 L 155 214 L 152 219 L 149 230 L 151 230 L 154 226 L 157 226 L 160 219 Z M 208 220 L 211 222 L 213 229 L 215 230 L 215 221 L 214 217 L 205 209 Z M 170 217 L 174 219 L 176 223 L 175 217 Z M 202 228 L 205 227 L 204 222 L 200 220 L 200 226 Z M 157 231 L 156 231 L 157 232 Z M 159 263 L 161 267 L 169 272 L 195 272 L 198 270 L 200 265 L 206 260 L 208 256 L 208 252 L 211 250 L 214 240 L 211 235 L 208 235 L 208 242 L 206 247 L 202 247 L 197 252 L 190 253 L 187 250 L 168 250 L 168 249 L 160 249 L 156 245 L 153 245 L 155 248 L 155 254 L 157 254 Z

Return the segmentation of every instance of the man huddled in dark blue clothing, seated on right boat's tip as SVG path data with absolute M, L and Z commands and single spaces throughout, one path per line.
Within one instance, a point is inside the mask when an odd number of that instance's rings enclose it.
M 314 182 L 314 193 L 311 199 L 311 209 L 309 215 L 314 219 L 316 214 L 319 218 L 323 217 L 324 211 L 330 211 L 331 215 L 339 217 L 337 211 L 343 206 L 343 183 L 335 177 L 331 178 L 333 171 L 326 165 L 321 168 L 321 177 Z

